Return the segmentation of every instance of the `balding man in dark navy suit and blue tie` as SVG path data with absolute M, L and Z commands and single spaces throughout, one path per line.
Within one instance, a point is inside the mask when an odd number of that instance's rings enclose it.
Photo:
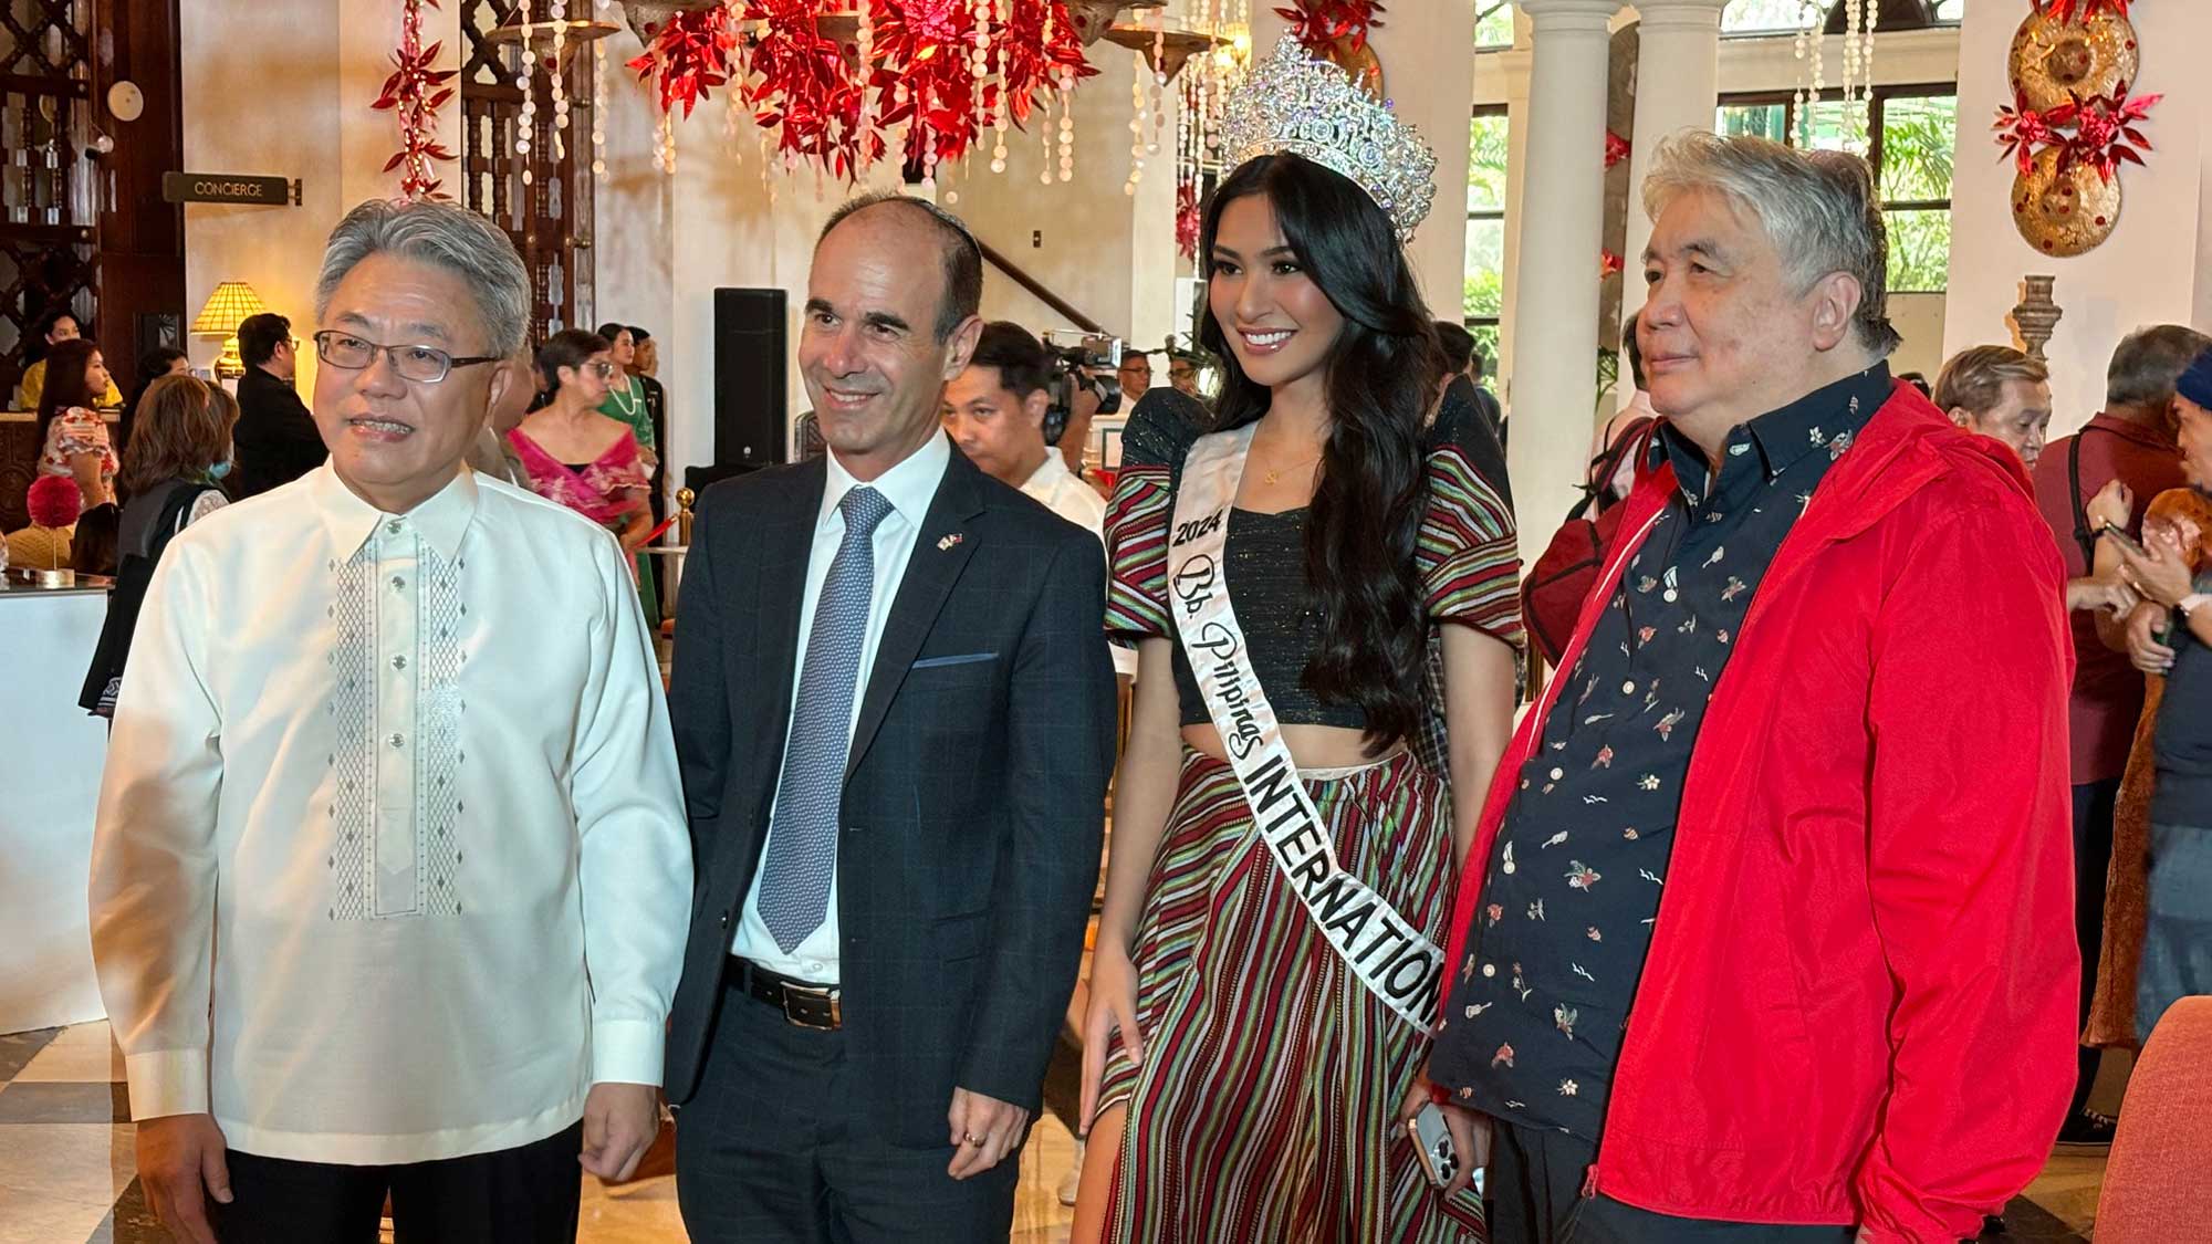
M 830 454 L 708 491 L 670 711 L 699 892 L 670 1014 L 692 1240 L 1004 1240 L 1097 881 L 1097 536 L 938 427 L 982 255 L 858 199 L 807 281 Z

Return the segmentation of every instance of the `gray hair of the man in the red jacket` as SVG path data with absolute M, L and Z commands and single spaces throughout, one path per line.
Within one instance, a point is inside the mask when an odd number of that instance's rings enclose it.
M 1725 195 L 1754 215 L 1801 292 L 1832 272 L 1856 279 L 1860 345 L 1878 359 L 1898 348 L 1898 330 L 1889 325 L 1889 228 L 1865 159 L 1692 131 L 1659 146 L 1644 182 L 1644 210 L 1657 221 L 1668 204 L 1694 190 Z

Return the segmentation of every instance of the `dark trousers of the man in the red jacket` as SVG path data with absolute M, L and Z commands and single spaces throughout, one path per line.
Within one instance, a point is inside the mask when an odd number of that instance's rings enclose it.
M 1710 1222 L 1584 1198 L 1595 1160 L 1588 1140 L 1491 1120 L 1491 1244 L 1849 1244 L 1856 1235 L 1851 1226 Z

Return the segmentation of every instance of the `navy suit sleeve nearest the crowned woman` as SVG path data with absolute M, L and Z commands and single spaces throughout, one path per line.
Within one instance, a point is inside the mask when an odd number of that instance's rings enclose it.
M 1068 538 L 1013 662 L 1006 719 L 1006 841 L 982 1007 L 956 1082 L 1037 1111 L 1044 1065 L 1075 987 L 1099 874 L 1115 682 L 1099 626 L 1106 560 Z

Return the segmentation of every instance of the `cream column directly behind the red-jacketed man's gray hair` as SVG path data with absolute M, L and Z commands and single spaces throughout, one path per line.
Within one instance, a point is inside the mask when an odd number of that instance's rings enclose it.
M 1630 277 L 1650 243 L 1652 221 L 1644 215 L 1644 177 L 1659 144 L 1681 131 L 1710 131 L 1721 102 L 1721 9 L 1728 0 L 1639 0 L 1637 13 L 1637 133 L 1628 153 L 1628 246 L 1621 259 Z M 1621 299 L 1621 321 L 1644 305 L 1630 283 Z M 1626 372 L 1624 372 L 1626 374 Z M 1628 396 L 1628 387 L 1621 387 Z

